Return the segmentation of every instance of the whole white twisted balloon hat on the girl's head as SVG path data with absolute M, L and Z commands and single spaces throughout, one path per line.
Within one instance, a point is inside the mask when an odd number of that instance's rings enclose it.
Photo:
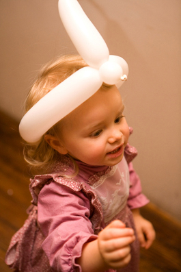
M 98 30 L 76 0 L 59 0 L 59 15 L 76 50 L 89 65 L 70 75 L 40 99 L 20 121 L 20 135 L 36 143 L 55 123 L 92 97 L 102 83 L 119 88 L 127 79 L 128 64 L 109 55 Z

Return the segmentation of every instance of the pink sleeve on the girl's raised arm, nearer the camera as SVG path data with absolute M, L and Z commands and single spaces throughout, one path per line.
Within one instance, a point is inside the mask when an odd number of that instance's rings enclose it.
M 81 271 L 76 258 L 84 243 L 97 238 L 89 216 L 89 200 L 83 193 L 56 182 L 40 191 L 38 223 L 46 237 L 42 248 L 53 271 Z

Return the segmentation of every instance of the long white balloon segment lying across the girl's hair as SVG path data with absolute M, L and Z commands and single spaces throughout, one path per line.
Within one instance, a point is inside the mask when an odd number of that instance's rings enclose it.
M 98 70 L 83 67 L 42 97 L 20 121 L 20 136 L 35 143 L 55 123 L 81 105 L 102 85 Z

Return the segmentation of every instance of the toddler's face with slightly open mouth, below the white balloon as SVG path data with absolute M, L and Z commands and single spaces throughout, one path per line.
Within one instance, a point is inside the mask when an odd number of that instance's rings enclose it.
M 57 151 L 87 164 L 117 164 L 129 136 L 123 110 L 116 86 L 100 88 L 60 122 Z

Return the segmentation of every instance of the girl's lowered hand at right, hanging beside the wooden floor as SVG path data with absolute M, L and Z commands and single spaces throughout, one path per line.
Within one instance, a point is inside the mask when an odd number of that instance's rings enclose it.
M 141 216 L 139 209 L 134 209 L 132 212 L 135 220 L 135 227 L 137 230 L 139 243 L 141 247 L 148 249 L 152 245 L 156 236 L 154 227 L 150 221 L 144 219 Z

